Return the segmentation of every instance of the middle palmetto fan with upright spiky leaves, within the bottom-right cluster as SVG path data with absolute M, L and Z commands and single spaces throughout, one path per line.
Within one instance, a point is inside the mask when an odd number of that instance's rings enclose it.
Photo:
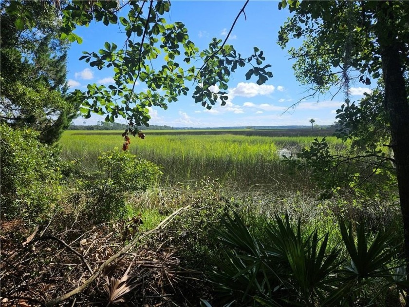
M 275 223 L 268 224 L 267 236 L 276 253 L 281 254 L 285 270 L 280 279 L 291 289 L 290 293 L 296 293 L 294 303 L 316 306 L 323 301 L 333 283 L 332 276 L 342 263 L 340 249 L 327 250 L 328 232 L 319 238 L 314 230 L 303 238 L 300 220 L 294 232 L 288 216 L 283 221 L 276 215 Z

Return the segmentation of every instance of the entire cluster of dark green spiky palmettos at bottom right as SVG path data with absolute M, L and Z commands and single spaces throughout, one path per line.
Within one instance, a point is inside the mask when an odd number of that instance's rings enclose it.
M 227 304 L 346 306 L 365 285 L 376 282 L 380 294 L 406 283 L 403 268 L 390 272 L 397 256 L 396 248 L 388 246 L 390 234 L 379 232 L 369 243 L 363 226 L 357 226 L 355 238 L 352 226 L 347 230 L 341 221 L 346 259 L 341 257 L 341 244 L 329 249 L 328 233 L 321 237 L 317 230 L 303 233 L 300 221 L 293 226 L 288 216 L 276 215 L 267 222 L 263 238 L 253 234 L 236 212 L 222 220 L 223 228 L 214 232 L 223 248 L 208 278 L 218 300 Z

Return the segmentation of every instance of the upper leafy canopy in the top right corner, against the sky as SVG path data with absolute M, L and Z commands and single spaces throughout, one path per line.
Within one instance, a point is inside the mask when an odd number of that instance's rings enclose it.
M 282 0 L 279 9 L 286 8 L 287 4 L 294 15 L 281 26 L 279 45 L 285 48 L 291 38 L 304 39 L 301 47 L 289 49 L 297 60 L 294 67 L 300 82 L 312 84 L 314 90 L 326 93 L 330 86 L 342 85 L 339 81 L 343 70 L 358 71 L 359 81 L 365 84 L 371 84 L 370 77 L 381 76 L 381 50 L 374 38 L 383 43 L 391 39 L 385 37 L 387 28 L 383 23 L 376 22 L 381 18 L 380 8 L 384 4 Z M 394 2 L 388 10 L 395 13 L 388 26 L 394 27 L 397 41 L 407 41 L 408 3 Z M 408 46 L 401 48 L 406 48 L 402 52 L 407 54 Z M 407 67 L 408 58 L 402 61 Z

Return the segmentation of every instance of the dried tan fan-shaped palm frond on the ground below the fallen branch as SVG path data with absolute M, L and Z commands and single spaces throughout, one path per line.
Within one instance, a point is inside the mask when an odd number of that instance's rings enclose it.
M 104 290 L 109 298 L 108 305 L 110 305 L 111 303 L 112 304 L 124 303 L 125 302 L 123 298 L 124 295 L 137 286 L 137 284 L 132 283 L 132 279 L 133 277 L 135 277 L 135 275 L 129 274 L 131 266 L 132 263 L 129 265 L 128 269 L 125 271 L 121 279 L 117 279 L 115 277 L 111 277 L 110 279 L 108 279 L 108 277 L 105 276 L 104 279 L 106 281 L 106 284 L 104 286 Z

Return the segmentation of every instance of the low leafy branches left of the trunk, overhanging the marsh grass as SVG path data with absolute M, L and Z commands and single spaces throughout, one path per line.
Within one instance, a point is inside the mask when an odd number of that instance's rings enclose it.
M 321 197 L 352 193 L 371 199 L 395 198 L 393 159 L 382 150 L 357 152 L 354 148 L 333 152 L 326 138 L 316 138 L 297 158 L 285 162 L 297 169 L 310 168 L 314 181 L 324 189 Z

